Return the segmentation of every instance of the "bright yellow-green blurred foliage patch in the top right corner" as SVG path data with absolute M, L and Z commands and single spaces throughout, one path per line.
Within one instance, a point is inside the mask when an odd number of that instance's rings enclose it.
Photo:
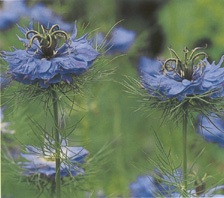
M 171 0 L 159 14 L 159 22 L 166 35 L 165 46 L 181 51 L 184 46 L 193 48 L 208 44 L 208 54 L 219 61 L 223 55 L 224 27 L 223 1 Z

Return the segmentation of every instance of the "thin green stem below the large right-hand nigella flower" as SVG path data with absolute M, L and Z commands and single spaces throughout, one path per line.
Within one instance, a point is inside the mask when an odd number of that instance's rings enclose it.
M 187 190 L 187 111 L 183 115 L 183 184 Z

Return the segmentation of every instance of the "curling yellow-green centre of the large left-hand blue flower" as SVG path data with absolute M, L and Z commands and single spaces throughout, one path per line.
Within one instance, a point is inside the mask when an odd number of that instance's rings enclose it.
M 60 30 L 59 25 L 53 25 L 50 29 L 46 29 L 42 25 L 40 27 L 42 33 L 35 30 L 30 30 L 26 33 L 25 36 L 26 39 L 30 40 L 29 47 L 32 47 L 34 40 L 37 39 L 44 56 L 50 58 L 56 54 L 55 48 L 59 43 L 59 39 L 64 38 L 67 40 L 68 35 L 66 32 Z

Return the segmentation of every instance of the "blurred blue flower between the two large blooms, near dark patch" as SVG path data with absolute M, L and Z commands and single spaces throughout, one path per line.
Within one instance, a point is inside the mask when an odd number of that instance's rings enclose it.
M 108 39 L 102 33 L 96 37 L 97 45 L 105 46 L 107 55 L 115 53 L 126 53 L 136 38 L 136 33 L 132 30 L 126 30 L 123 27 L 114 28 Z

